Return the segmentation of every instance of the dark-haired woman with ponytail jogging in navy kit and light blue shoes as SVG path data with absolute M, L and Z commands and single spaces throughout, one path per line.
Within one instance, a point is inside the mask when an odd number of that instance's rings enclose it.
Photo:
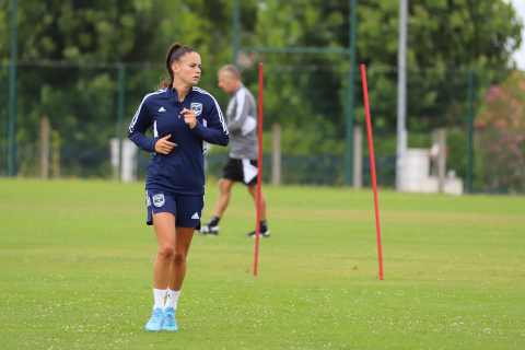
M 145 180 L 147 224 L 153 224 L 159 243 L 149 331 L 178 329 L 175 311 L 186 256 L 203 208 L 203 141 L 220 145 L 230 141 L 215 98 L 195 86 L 200 69 L 200 56 L 192 47 L 174 44 L 166 56 L 165 88 L 145 95 L 128 130 L 139 149 L 154 152 Z M 153 138 L 145 136 L 149 127 Z

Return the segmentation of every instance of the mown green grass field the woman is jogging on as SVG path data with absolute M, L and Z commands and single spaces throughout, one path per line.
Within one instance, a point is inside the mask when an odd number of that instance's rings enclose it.
M 205 219 L 217 189 L 208 186 Z M 156 241 L 143 184 L 0 179 L 2 349 L 524 349 L 525 198 L 234 187 L 195 236 L 176 332 L 144 331 Z

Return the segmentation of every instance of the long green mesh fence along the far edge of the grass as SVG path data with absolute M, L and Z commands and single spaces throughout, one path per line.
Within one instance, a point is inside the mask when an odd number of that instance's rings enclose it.
M 265 56 L 264 179 L 269 182 L 271 126 L 282 127 L 282 183 L 346 184 L 348 67 L 283 63 Z M 322 60 L 319 60 L 322 62 Z M 257 96 L 257 62 L 242 66 Z M 225 109 L 229 95 L 217 86 L 219 66 L 206 67 L 199 86 Z M 393 188 L 396 165 L 397 71 L 369 67 L 378 185 Z M 14 170 L 40 176 L 39 127 L 50 120 L 50 177 L 115 178 L 109 139 L 126 138 L 143 96 L 164 77 L 162 65 L 20 62 L 16 74 Z M 447 131 L 447 168 L 471 191 L 525 191 L 525 75 L 518 71 L 411 69 L 407 74 L 408 147 L 430 149 L 432 130 Z M 8 175 L 9 69 L 0 66 L 0 175 Z M 355 82 L 357 125 L 364 126 L 360 79 Z M 470 120 L 470 121 L 469 121 Z M 471 132 L 469 132 L 471 130 Z M 138 178 L 151 155 L 139 153 Z M 207 155 L 208 176 L 219 178 L 228 150 Z M 368 141 L 363 139 L 363 185 L 370 186 Z

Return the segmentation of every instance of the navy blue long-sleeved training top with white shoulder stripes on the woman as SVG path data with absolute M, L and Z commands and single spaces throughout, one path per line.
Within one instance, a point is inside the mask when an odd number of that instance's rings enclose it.
M 184 122 L 184 109 L 195 112 L 197 125 L 190 129 Z M 145 130 L 153 127 L 153 139 Z M 177 91 L 165 88 L 145 95 L 129 126 L 128 137 L 137 147 L 155 152 L 155 142 L 167 139 L 176 143 L 170 154 L 154 153 L 148 164 L 145 189 L 165 190 L 178 195 L 205 194 L 203 141 L 228 145 L 230 133 L 215 98 L 205 90 L 192 86 L 183 102 Z

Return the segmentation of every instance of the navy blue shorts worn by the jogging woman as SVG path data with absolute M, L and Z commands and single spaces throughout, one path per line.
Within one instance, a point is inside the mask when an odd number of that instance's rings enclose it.
M 148 207 L 148 221 L 145 223 L 149 225 L 153 224 L 152 212 L 155 214 L 171 212 L 177 218 L 175 226 L 200 230 L 205 196 L 173 195 L 150 189 L 145 191 L 145 206 Z

